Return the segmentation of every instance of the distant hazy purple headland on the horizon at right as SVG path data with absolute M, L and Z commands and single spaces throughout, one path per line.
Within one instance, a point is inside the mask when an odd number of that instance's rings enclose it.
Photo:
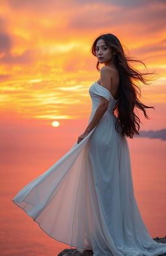
M 148 131 L 140 131 L 139 135 L 135 135 L 134 137 L 148 137 L 150 139 L 161 139 L 163 141 L 166 140 L 166 129 L 162 130 L 148 130 Z

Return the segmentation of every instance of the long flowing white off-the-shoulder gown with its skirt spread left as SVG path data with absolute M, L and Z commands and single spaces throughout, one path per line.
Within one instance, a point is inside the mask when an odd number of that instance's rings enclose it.
M 89 87 L 91 121 L 100 96 L 109 100 L 101 121 L 79 144 L 12 199 L 55 240 L 93 256 L 157 256 L 166 244 L 143 223 L 132 183 L 126 137 L 115 130 L 117 103 L 108 89 Z

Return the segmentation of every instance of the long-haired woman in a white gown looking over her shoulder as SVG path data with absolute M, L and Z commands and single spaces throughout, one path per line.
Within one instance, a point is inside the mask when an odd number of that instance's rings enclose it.
M 139 134 L 134 80 L 116 36 L 99 36 L 92 53 L 103 63 L 89 87 L 91 116 L 77 143 L 12 199 L 52 238 L 93 256 L 156 256 L 166 245 L 152 239 L 137 207 L 126 137 Z M 134 61 L 134 60 L 130 60 Z M 147 73 L 150 74 L 150 73 Z M 138 87 L 137 87 L 138 88 Z M 117 116 L 114 114 L 116 111 Z

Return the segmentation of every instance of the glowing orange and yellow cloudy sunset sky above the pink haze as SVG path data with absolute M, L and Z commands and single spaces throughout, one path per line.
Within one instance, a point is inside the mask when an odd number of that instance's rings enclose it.
M 47 124 L 86 118 L 88 88 L 100 75 L 90 48 L 103 33 L 116 35 L 126 53 L 158 73 L 151 85 L 143 85 L 143 96 L 157 107 L 156 117 L 161 115 L 166 81 L 164 5 L 164 1 L 3 1 L 1 115 Z M 136 67 L 143 71 L 143 65 Z

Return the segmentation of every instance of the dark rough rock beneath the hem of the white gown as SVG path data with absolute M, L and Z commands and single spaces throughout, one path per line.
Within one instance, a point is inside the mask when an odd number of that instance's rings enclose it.
M 153 239 L 158 243 L 166 244 L 166 236 L 155 237 Z M 92 255 L 93 255 L 93 251 L 89 251 L 87 249 L 83 253 L 80 253 L 79 251 L 77 251 L 77 249 L 64 249 L 58 254 L 58 256 L 92 256 Z M 162 256 L 166 256 L 166 254 L 162 254 Z

